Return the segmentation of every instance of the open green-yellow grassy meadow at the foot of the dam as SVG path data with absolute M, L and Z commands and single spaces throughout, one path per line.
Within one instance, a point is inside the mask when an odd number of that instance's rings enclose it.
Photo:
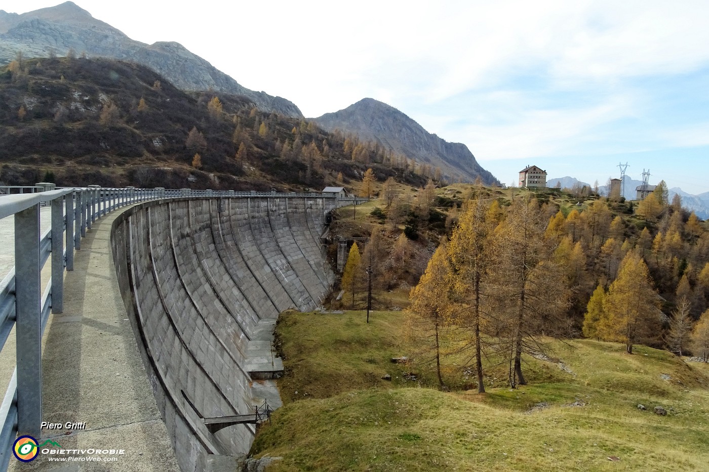
M 252 448 L 284 457 L 269 471 L 709 468 L 709 366 L 645 347 L 629 356 L 618 344 L 552 343 L 575 375 L 527 358 L 529 386 L 508 390 L 506 369 L 491 366 L 487 383 L 495 387 L 486 395 L 442 393 L 427 388 L 435 380 L 430 366 L 389 361 L 416 352 L 402 340 L 403 320 L 401 312 L 375 312 L 369 325 L 362 312 L 281 317 L 285 405 Z M 445 366 L 447 383 L 464 386 L 452 363 L 462 358 Z M 420 380 L 405 380 L 408 371 Z M 576 399 L 585 405 L 569 406 Z M 549 407 L 530 411 L 540 402 Z M 654 415 L 656 405 L 669 415 Z

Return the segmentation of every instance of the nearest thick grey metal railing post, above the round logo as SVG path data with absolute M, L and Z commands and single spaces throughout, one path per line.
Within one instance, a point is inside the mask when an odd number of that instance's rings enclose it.
M 19 434 L 39 438 L 42 422 L 39 205 L 15 213 L 15 285 L 17 426 Z

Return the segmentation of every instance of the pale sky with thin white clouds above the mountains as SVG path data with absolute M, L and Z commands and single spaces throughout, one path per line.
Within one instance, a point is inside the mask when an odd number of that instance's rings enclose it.
M 74 3 L 307 117 L 384 101 L 506 184 L 535 164 L 603 185 L 627 162 L 633 179 L 649 169 L 650 184 L 709 191 L 706 0 Z

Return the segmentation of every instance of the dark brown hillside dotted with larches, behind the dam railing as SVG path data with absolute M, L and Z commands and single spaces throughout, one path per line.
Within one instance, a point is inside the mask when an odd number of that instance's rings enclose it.
M 245 96 L 179 90 L 129 62 L 20 58 L 0 69 L 0 98 L 9 185 L 320 191 L 369 168 L 415 186 L 434 170 Z

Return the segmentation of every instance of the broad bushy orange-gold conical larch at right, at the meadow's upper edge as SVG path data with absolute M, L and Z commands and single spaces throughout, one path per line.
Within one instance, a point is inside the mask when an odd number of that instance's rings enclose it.
M 635 252 L 620 263 L 618 278 L 610 284 L 605 310 L 598 321 L 601 339 L 625 344 L 632 354 L 637 342 L 652 339 L 660 330 L 660 299 L 652 288 L 647 265 Z

